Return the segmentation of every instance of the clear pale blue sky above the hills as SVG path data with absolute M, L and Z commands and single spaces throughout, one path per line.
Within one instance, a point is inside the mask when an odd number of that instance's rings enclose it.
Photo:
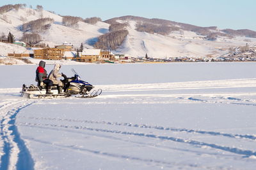
M 0 0 L 5 4 L 40 4 L 59 15 L 102 20 L 134 15 L 161 18 L 202 27 L 251 29 L 256 31 L 255 0 Z

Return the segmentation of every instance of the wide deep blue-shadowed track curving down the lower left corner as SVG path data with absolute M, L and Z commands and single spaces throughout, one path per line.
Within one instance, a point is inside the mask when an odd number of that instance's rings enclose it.
M 3 141 L 4 153 L 1 155 L 0 169 L 34 169 L 33 159 L 15 125 L 16 116 L 20 110 L 33 103 L 35 101 L 15 100 L 1 105 L 0 138 Z

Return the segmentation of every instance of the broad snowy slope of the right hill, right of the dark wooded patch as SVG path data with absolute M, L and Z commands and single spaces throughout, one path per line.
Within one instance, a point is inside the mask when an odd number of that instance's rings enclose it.
M 140 18 L 140 19 L 138 19 Z M 169 34 L 160 34 L 156 32 L 141 32 L 138 30 L 138 24 L 141 22 L 148 23 L 147 18 L 141 17 L 119 17 L 107 20 L 111 23 L 126 24 L 126 29 L 129 31 L 129 35 L 125 39 L 122 46 L 115 51 L 120 53 L 127 53 L 132 56 L 145 56 L 145 53 L 149 57 L 218 57 L 225 53 L 228 53 L 228 49 L 234 46 L 244 46 L 246 43 L 250 45 L 256 44 L 256 38 L 249 38 L 242 34 L 232 34 L 225 36 L 224 33 L 220 33 L 220 36 L 216 34 L 215 41 L 209 41 L 207 34 L 211 32 L 223 32 L 215 27 L 207 27 L 202 29 L 195 29 L 195 31 L 188 31 L 188 25 L 184 24 L 175 25 L 179 27 L 178 31 L 171 31 Z M 158 20 L 158 19 L 157 19 Z M 163 20 L 164 22 L 170 22 Z M 170 22 L 172 23 L 172 22 Z M 159 23 L 153 22 L 152 25 L 159 25 Z M 164 23 L 165 24 L 165 23 Z M 174 22 L 175 24 L 175 22 Z M 189 25 L 192 27 L 191 25 Z M 173 26 L 172 26 L 173 27 Z M 196 27 L 196 26 L 193 26 Z M 160 29 L 163 27 L 159 27 Z M 213 30 L 215 29 L 215 30 Z M 191 29 L 193 30 L 193 29 Z M 199 30 L 199 31 L 198 31 Z M 203 32 L 207 32 L 203 33 Z M 231 38 L 232 36 L 232 38 Z

